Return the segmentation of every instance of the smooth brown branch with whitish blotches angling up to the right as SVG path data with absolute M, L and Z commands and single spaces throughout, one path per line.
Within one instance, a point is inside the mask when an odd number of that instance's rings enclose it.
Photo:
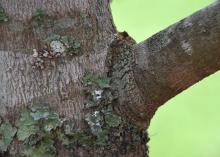
M 159 106 L 220 69 L 220 2 L 137 44 L 135 59 L 149 121 Z

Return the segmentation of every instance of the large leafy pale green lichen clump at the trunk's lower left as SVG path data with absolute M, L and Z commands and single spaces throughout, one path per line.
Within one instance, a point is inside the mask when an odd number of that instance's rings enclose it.
M 56 137 L 61 136 L 56 135 L 56 130 L 61 128 L 63 122 L 46 104 L 33 105 L 21 112 L 15 123 L 17 139 L 22 143 L 21 153 L 26 157 L 55 157 L 54 143 Z

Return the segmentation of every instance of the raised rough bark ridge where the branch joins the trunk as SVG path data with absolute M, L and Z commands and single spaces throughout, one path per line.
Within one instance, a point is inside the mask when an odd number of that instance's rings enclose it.
M 145 100 L 136 84 L 133 71 L 134 45 L 135 41 L 126 32 L 119 33 L 115 37 L 107 57 L 108 76 L 112 78 L 111 85 L 114 96 L 117 97 L 115 108 L 118 114 L 145 130 L 147 121 L 142 116 L 146 111 L 144 108 L 141 109 Z M 134 107 L 134 105 L 137 106 Z

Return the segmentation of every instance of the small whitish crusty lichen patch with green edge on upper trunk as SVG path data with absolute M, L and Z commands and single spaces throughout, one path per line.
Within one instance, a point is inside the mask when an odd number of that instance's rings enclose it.
M 33 49 L 31 64 L 33 68 L 44 69 L 47 63 L 55 66 L 54 59 L 79 55 L 81 44 L 70 36 L 49 35 L 43 42 L 43 48 Z

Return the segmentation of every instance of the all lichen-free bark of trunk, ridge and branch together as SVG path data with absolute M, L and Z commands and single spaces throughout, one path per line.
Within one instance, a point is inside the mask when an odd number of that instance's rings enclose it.
M 157 108 L 220 68 L 220 2 L 139 44 L 126 33 L 116 35 L 109 5 L 109 0 L 0 1 L 9 18 L 0 23 L 1 116 L 15 121 L 21 108 L 37 101 L 86 128 L 81 82 L 93 71 L 111 78 L 113 110 L 138 127 L 141 140 L 134 143 L 121 128 L 120 141 L 109 135 L 112 146 L 76 146 L 73 156 L 146 157 L 144 131 Z M 43 24 L 34 21 L 37 9 L 46 12 L 39 19 Z M 51 33 L 74 36 L 80 53 L 45 59 L 42 69 L 34 69 L 33 49 L 42 50 Z M 58 157 L 68 153 L 60 149 Z

